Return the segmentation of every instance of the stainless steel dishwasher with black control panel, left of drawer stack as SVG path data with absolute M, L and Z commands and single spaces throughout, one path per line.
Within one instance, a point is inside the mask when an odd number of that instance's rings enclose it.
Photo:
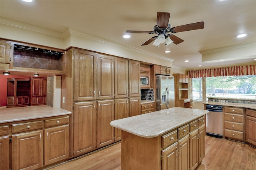
M 207 104 L 206 110 L 209 111 L 206 114 L 206 135 L 222 138 L 222 106 Z

